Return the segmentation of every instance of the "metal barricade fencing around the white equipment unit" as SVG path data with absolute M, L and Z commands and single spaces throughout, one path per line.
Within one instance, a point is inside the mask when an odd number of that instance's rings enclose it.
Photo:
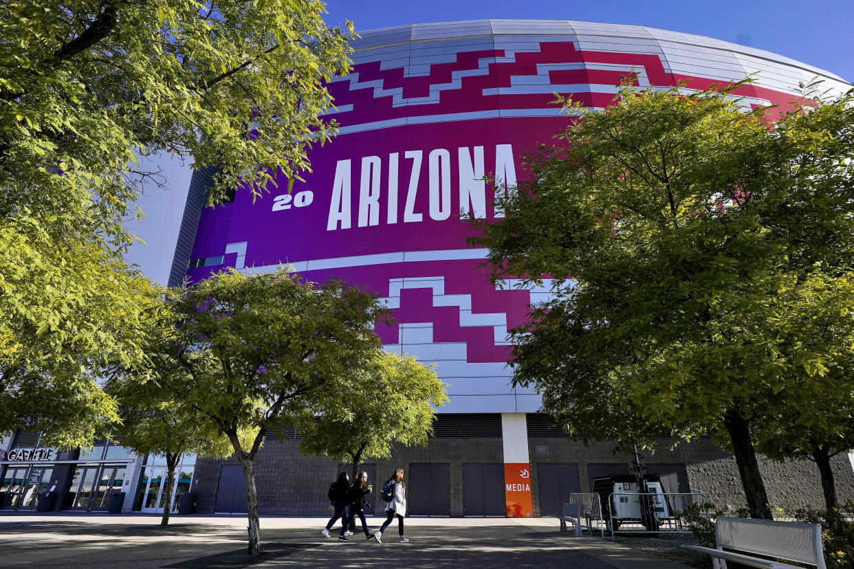
M 690 533 L 691 529 L 682 516 L 688 508 L 705 502 L 705 496 L 699 492 L 620 492 L 608 496 L 608 504 L 602 506 L 605 509 L 605 527 L 614 539 L 617 533 Z

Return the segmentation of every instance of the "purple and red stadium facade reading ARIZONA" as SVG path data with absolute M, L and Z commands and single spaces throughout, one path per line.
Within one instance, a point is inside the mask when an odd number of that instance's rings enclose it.
M 196 172 L 170 284 L 229 267 L 290 264 L 311 281 L 337 276 L 371 287 L 396 321 L 377 328 L 386 349 L 436 363 L 450 396 L 430 444 L 371 462 L 371 478 L 407 468 L 413 515 L 557 513 L 566 492 L 589 491 L 594 475 L 626 472 L 628 459 L 612 454 L 613 445 L 567 440 L 537 413 L 535 392 L 512 386 L 507 330 L 524 321 L 530 304 L 548 298 L 548 283 L 494 286 L 479 268 L 486 251 L 466 245 L 470 229 L 458 214 L 500 217 L 495 190 L 481 178 L 493 174 L 512 186 L 528 175 L 524 153 L 567 124 L 551 104 L 553 93 L 603 108 L 629 73 L 644 86 L 687 81 L 685 92 L 753 75 L 755 83 L 737 91 L 744 104 L 782 108 L 798 84 L 814 78 L 831 92 L 851 85 L 761 49 L 640 26 L 473 20 L 361 35 L 353 73 L 329 86 L 336 104 L 329 117 L 339 134 L 310 152 L 313 171 L 290 195 L 253 204 L 238 191 L 230 203 L 208 208 L 211 172 Z M 261 514 L 325 510 L 325 490 L 340 465 L 301 456 L 297 438 L 268 440 L 260 451 Z M 708 442 L 661 450 L 646 462 L 670 491 L 702 491 L 719 505 L 743 502 L 734 461 Z M 834 467 L 840 498 L 854 497 L 851 464 L 843 459 Z M 142 459 L 128 468 L 128 488 L 136 490 L 126 508 L 142 508 L 159 471 Z M 200 460 L 185 470 L 198 511 L 245 508 L 236 463 Z M 765 472 L 775 504 L 822 503 L 810 465 L 769 465 Z

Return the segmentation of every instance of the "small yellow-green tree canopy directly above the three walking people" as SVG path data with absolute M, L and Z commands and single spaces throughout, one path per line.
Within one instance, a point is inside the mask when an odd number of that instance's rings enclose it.
M 362 461 L 389 458 L 393 444 L 427 444 L 433 432 L 434 406 L 447 402 L 445 385 L 414 357 L 378 352 L 370 366 L 342 393 L 342 407 L 301 423 L 300 450 L 353 465 L 358 478 Z

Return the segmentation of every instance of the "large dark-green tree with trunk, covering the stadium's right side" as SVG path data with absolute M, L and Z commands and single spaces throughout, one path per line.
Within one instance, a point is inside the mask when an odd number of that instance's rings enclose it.
M 772 126 L 738 86 L 623 85 L 600 112 L 567 102 L 581 118 L 529 157 L 506 218 L 474 220 L 471 242 L 495 278 L 554 279 L 513 332 L 514 381 L 570 433 L 611 418 L 594 437 L 711 432 L 752 515 L 770 518 L 751 428 L 784 403 L 806 412 L 809 392 L 781 392 L 851 349 L 791 341 L 785 292 L 850 270 L 854 99 L 796 103 Z

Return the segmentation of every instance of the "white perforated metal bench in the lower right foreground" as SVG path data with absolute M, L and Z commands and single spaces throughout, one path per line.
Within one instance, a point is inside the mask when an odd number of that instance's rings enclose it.
M 788 521 L 724 518 L 715 520 L 717 549 L 683 545 L 685 549 L 711 555 L 715 569 L 727 569 L 727 561 L 766 569 L 797 569 L 782 561 L 760 559 L 750 554 L 765 555 L 826 569 L 822 554 L 822 526 Z M 735 551 L 725 551 L 734 549 Z

